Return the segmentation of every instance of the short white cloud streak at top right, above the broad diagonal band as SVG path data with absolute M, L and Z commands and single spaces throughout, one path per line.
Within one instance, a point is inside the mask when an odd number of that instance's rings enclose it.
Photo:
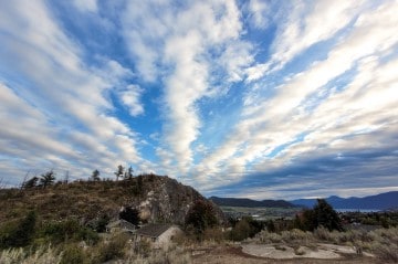
M 266 63 L 253 65 L 247 71 L 248 81 L 259 80 L 269 71 L 281 70 L 300 53 L 322 41 L 332 40 L 364 10 L 365 1 L 345 1 L 331 4 L 328 0 L 310 4 L 295 2 L 286 18 L 280 14 L 279 33 L 272 44 L 272 57 Z M 308 12 L 308 10 L 311 10 Z M 307 13 L 308 12 L 308 13 Z M 336 41 L 336 40 L 333 40 Z

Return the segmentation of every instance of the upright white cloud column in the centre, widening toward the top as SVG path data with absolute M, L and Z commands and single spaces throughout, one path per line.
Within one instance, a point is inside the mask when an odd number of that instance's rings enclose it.
M 217 94 L 209 73 L 222 67 L 230 81 L 239 81 L 241 68 L 251 63 L 251 46 L 239 40 L 241 31 L 240 13 L 231 1 L 192 2 L 181 8 L 163 2 L 127 7 L 124 34 L 138 60 L 138 71 L 147 81 L 163 76 L 165 83 L 163 138 L 176 155 L 181 173 L 191 167 L 191 144 L 199 135 L 196 104 Z M 155 71 L 156 63 L 166 70 Z

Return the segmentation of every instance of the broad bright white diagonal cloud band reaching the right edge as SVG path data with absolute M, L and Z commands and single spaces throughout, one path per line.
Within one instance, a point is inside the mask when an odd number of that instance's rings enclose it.
M 282 168 L 296 157 L 316 156 L 320 155 L 318 150 L 325 152 L 331 141 L 364 129 L 368 129 L 371 135 L 364 147 L 386 147 L 374 135 L 381 129 L 392 128 L 397 122 L 391 114 L 397 112 L 398 105 L 397 97 L 392 94 L 392 87 L 397 85 L 392 73 L 396 61 L 383 64 L 384 59 L 380 57 L 381 54 L 388 57 L 386 52 L 398 43 L 392 33 L 398 30 L 398 21 L 394 17 L 397 8 L 398 4 L 387 2 L 363 13 L 344 42 L 328 52 L 326 60 L 287 78 L 272 98 L 262 103 L 259 101 L 263 98 L 259 98 L 253 105 L 249 105 L 232 135 L 198 166 L 198 180 L 202 182 L 203 177 L 200 175 L 203 171 L 213 178 L 222 178 L 226 169 L 232 169 L 239 175 L 244 165 L 251 166 L 259 160 L 263 162 L 255 170 Z M 373 60 L 369 61 L 369 57 Z M 344 92 L 332 92 L 332 95 L 318 101 L 318 106 L 313 109 L 304 107 L 310 96 L 325 88 L 326 84 L 346 71 L 355 70 L 358 63 L 358 73 L 343 88 Z M 307 135 L 301 141 L 300 138 L 305 134 Z M 374 138 L 370 139 L 371 137 Z M 295 142 L 296 140 L 298 141 Z M 363 141 L 365 142 L 366 140 Z M 283 147 L 285 144 L 287 145 Z M 345 148 L 353 148 L 355 145 L 354 139 L 349 139 Z M 280 147 L 282 151 L 277 150 Z M 276 152 L 271 155 L 273 151 Z M 273 157 L 274 155 L 277 156 Z

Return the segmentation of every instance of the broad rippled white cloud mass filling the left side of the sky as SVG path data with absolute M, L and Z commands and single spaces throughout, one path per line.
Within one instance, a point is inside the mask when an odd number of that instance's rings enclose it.
M 109 170 L 116 160 L 138 163 L 137 135 L 108 114 L 107 93 L 132 76 L 129 70 L 112 60 L 104 68 L 87 65 L 84 51 L 40 1 L 4 4 L 0 32 L 2 77 L 21 76 L 1 86 L 2 112 L 8 113 L 1 116 L 8 124 L 1 148 L 9 149 L 10 166 L 86 177 L 94 168 Z

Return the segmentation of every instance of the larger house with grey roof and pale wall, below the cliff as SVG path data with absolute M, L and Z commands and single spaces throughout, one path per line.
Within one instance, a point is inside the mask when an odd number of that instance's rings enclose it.
M 170 244 L 182 230 L 172 224 L 147 224 L 135 233 L 136 242 L 150 241 L 155 247 L 165 247 Z

